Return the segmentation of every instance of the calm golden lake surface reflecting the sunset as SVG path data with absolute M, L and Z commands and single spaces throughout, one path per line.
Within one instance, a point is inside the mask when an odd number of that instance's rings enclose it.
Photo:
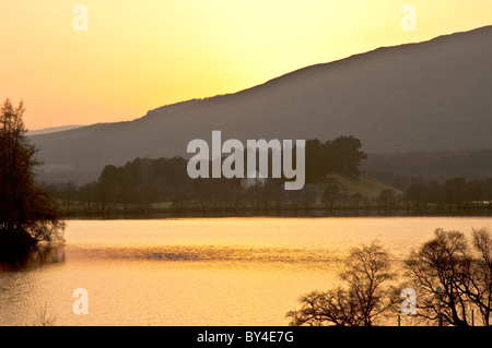
M 395 263 L 435 228 L 490 217 L 70 220 L 63 251 L 0 271 L 0 325 L 288 325 L 301 295 L 329 289 L 350 248 L 378 240 Z M 73 313 L 84 288 L 89 314 Z

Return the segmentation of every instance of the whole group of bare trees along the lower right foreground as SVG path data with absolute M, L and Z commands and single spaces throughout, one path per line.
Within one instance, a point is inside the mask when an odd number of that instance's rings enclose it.
M 340 274 L 343 287 L 301 298 L 290 311 L 290 325 L 371 326 L 378 319 L 400 314 L 400 292 L 417 293 L 415 321 L 425 324 L 491 325 L 492 233 L 472 231 L 471 242 L 460 231 L 436 229 L 434 238 L 412 250 L 399 274 L 378 244 L 353 249 Z M 399 286 L 396 276 L 405 279 Z

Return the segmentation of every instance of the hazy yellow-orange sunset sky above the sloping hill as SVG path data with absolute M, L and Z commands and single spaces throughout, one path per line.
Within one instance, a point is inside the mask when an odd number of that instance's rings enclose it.
M 87 31 L 73 27 L 77 4 Z M 417 10 L 415 31 L 401 28 L 405 4 Z M 2 0 L 0 98 L 23 98 L 33 130 L 131 120 L 490 24 L 491 0 Z

